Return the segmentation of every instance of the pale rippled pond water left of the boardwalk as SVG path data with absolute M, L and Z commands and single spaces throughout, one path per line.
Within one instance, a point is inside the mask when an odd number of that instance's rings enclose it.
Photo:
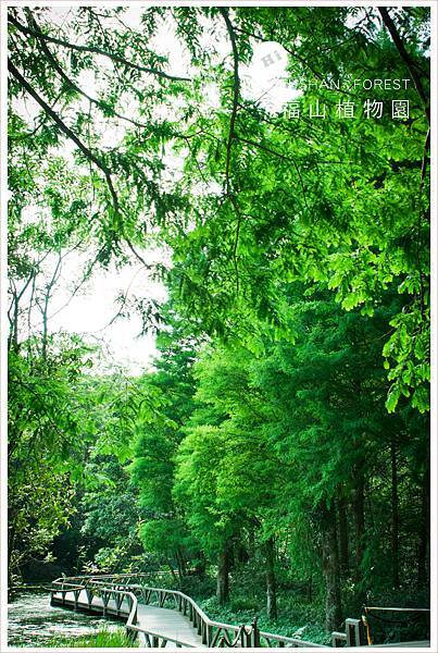
M 10 646 L 46 646 L 53 637 L 80 637 L 118 630 L 120 624 L 50 605 L 49 592 L 25 591 L 8 604 Z

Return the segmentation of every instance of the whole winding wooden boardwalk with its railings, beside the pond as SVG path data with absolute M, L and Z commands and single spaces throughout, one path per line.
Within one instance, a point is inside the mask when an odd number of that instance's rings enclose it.
M 213 621 L 197 603 L 178 590 L 152 588 L 142 583 L 146 575 L 60 578 L 52 582 L 51 605 L 122 619 L 126 632 L 138 637 L 140 648 L 306 648 L 327 649 L 251 626 Z M 140 581 L 140 582 L 139 582 Z M 363 646 L 365 630 L 361 619 L 346 619 L 346 632 L 331 633 L 331 646 Z M 370 648 L 428 648 L 429 641 L 376 644 Z

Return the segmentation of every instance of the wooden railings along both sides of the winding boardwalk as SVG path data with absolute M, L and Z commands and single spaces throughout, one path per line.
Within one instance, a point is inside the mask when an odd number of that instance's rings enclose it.
M 234 626 L 210 619 L 203 609 L 187 594 L 178 590 L 166 590 L 133 583 L 132 579 L 150 575 L 107 575 L 107 576 L 76 576 L 59 578 L 52 582 L 51 603 L 75 609 L 87 609 L 88 612 L 100 612 L 114 617 L 125 617 L 128 633 L 139 636 L 140 644 L 151 648 L 165 646 L 172 642 L 176 646 L 192 648 L 178 638 L 163 637 L 158 632 L 148 630 L 140 626 L 137 620 L 138 602 L 149 605 L 157 604 L 159 607 L 173 607 L 186 616 L 201 638 L 202 644 L 210 648 L 318 648 L 327 649 L 324 644 L 316 644 L 292 637 L 274 634 L 259 630 L 256 623 L 251 626 L 245 624 Z M 80 592 L 86 593 L 87 603 L 79 602 Z M 72 597 L 68 599 L 67 596 Z M 95 601 L 95 597 L 100 601 Z M 114 605 L 110 605 L 110 601 Z

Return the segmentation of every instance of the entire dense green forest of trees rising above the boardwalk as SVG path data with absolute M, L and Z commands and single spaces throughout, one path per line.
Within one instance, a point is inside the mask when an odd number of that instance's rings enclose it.
M 427 602 L 429 13 L 9 9 L 12 583 L 165 567 L 327 631 Z M 52 329 L 72 256 L 72 297 L 165 284 L 115 309 L 152 371 Z

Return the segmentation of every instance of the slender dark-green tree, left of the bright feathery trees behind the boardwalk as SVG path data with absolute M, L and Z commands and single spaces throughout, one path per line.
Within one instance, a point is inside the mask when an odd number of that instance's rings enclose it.
M 176 454 L 184 436 L 182 427 L 193 409 L 193 344 L 178 340 L 180 325 L 170 321 L 171 331 L 159 337 L 160 358 L 157 371 L 145 375 L 147 393 L 159 397 L 160 408 L 153 421 L 137 420 L 134 460 L 129 466 L 133 483 L 139 490 L 139 503 L 145 514 L 139 537 L 146 551 L 162 556 L 167 565 L 174 562 L 180 575 L 197 544 L 182 520 L 172 491 Z

